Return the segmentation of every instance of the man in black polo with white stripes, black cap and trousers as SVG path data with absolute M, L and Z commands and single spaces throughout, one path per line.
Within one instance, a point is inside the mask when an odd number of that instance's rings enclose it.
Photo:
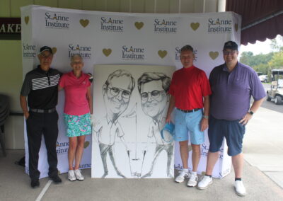
M 37 57 L 40 60 L 40 65 L 25 75 L 20 96 L 28 134 L 29 173 L 32 188 L 40 185 L 38 180 L 40 171 L 38 171 L 37 165 L 42 134 L 47 149 L 48 176 L 54 183 L 62 182 L 57 170 L 58 113 L 55 108 L 61 73 L 50 68 L 53 59 L 53 52 L 50 47 L 41 47 Z

